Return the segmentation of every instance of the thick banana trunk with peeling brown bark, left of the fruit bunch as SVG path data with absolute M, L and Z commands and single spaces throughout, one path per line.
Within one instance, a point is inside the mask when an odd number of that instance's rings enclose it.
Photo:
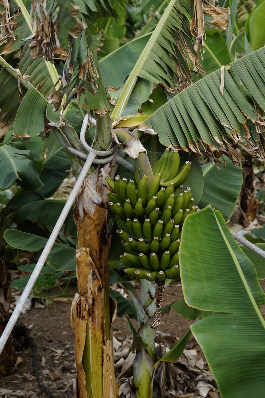
M 107 183 L 109 165 L 91 174 L 78 195 L 74 220 L 78 231 L 76 274 L 79 295 L 73 300 L 76 398 L 115 398 L 112 321 L 116 306 L 109 295 Z

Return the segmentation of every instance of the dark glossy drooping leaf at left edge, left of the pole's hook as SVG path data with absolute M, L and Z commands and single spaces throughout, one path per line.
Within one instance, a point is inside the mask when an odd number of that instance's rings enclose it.
M 0 146 L 0 191 L 8 189 L 16 181 L 25 191 L 37 191 L 43 187 L 36 164 L 27 149 L 12 144 Z

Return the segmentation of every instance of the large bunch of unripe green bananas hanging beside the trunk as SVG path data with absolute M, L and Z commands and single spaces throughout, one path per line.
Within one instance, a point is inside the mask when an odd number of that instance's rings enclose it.
M 181 227 L 198 208 L 193 205 L 191 189 L 182 191 L 190 168 L 191 162 L 186 162 L 178 173 L 178 151 L 167 148 L 154 166 L 148 191 L 146 175 L 139 180 L 138 189 L 132 179 L 106 177 L 111 188 L 109 205 L 125 249 L 121 262 L 128 275 L 157 282 L 179 277 Z

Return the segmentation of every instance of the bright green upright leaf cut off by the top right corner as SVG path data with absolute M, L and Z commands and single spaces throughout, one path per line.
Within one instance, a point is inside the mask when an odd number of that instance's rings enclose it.
M 249 14 L 245 24 L 246 54 L 265 45 L 265 1 L 259 0 Z

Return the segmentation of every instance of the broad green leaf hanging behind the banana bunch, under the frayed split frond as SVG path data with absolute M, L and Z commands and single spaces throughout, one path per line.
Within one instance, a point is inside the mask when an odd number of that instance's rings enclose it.
M 215 164 L 207 163 L 201 166 L 204 189 L 199 208 L 203 209 L 210 204 L 216 210 L 220 210 L 227 221 L 236 208 L 236 199 L 242 187 L 243 177 L 242 167 L 236 166 L 226 156 L 224 156 L 224 160 L 226 167 L 224 168 L 224 164 L 220 164 L 220 171 Z

